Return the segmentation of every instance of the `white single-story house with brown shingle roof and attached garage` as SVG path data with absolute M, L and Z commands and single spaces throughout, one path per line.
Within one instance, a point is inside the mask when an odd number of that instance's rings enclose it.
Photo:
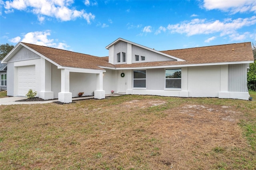
M 109 57 L 18 43 L 3 59 L 8 65 L 7 95 L 70 103 L 79 92 L 218 97 L 248 100 L 250 42 L 156 51 L 118 38 L 106 46 Z

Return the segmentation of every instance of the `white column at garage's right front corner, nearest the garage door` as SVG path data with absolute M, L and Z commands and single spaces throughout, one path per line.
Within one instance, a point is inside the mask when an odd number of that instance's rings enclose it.
M 53 99 L 52 91 L 52 65 L 50 62 L 46 61 L 41 57 L 41 91 L 38 93 L 39 97 L 42 99 Z

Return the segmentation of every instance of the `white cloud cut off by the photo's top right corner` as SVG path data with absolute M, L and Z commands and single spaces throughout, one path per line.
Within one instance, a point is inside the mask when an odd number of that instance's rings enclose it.
M 218 9 L 232 14 L 237 12 L 256 12 L 255 0 L 204 0 L 204 8 L 207 10 Z

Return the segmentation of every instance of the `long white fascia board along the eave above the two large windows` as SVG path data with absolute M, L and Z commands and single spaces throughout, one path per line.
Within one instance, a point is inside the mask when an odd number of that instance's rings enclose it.
M 158 68 L 172 68 L 172 67 L 195 67 L 195 66 L 210 66 L 210 65 L 229 65 L 229 64 L 246 64 L 253 63 L 254 61 L 235 61 L 225 63 L 203 63 L 203 64 L 184 64 L 184 65 L 161 65 L 153 67 L 123 67 L 116 68 L 116 70 L 129 70 L 129 69 L 158 69 Z

